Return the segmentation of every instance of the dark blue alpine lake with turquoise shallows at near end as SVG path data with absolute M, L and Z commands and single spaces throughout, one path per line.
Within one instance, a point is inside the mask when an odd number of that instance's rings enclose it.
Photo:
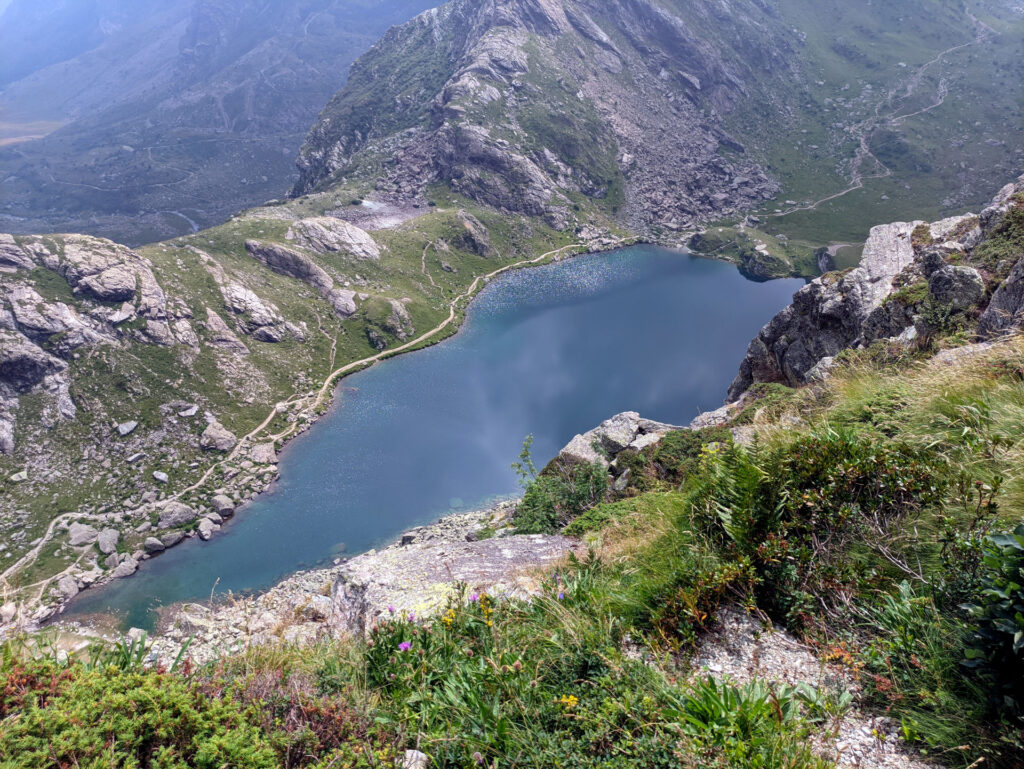
M 266 588 L 514 494 L 527 434 L 541 466 L 620 412 L 686 424 L 722 403 L 751 338 L 800 286 L 651 247 L 507 274 L 457 336 L 343 380 L 273 489 L 210 542 L 86 591 L 71 613 L 151 627 L 157 606 Z

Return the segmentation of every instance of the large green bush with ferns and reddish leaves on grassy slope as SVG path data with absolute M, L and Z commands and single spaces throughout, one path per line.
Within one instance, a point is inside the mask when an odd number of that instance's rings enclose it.
M 937 504 L 945 489 L 929 455 L 825 429 L 771 450 L 728 446 L 706 452 L 693 486 L 693 510 L 707 533 L 758 574 L 763 608 L 801 625 L 811 603 L 840 587 L 859 587 L 869 564 L 864 547 L 900 565 L 902 521 Z

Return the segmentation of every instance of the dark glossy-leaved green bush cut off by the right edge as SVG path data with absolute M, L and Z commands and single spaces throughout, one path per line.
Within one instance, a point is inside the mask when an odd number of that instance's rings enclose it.
M 991 687 L 996 706 L 1024 717 L 1024 523 L 984 547 L 978 601 L 968 609 L 975 631 L 966 666 Z

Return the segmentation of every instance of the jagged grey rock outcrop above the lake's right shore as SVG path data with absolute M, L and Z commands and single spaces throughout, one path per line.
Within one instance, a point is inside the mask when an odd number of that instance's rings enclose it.
M 1024 177 L 980 216 L 874 227 L 860 266 L 828 272 L 751 342 L 729 397 L 804 384 L 843 350 L 951 331 L 990 339 L 1024 324 Z

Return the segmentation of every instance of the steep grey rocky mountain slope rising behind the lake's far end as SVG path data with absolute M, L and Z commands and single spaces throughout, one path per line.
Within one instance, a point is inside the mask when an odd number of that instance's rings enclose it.
M 593 205 L 641 231 L 749 207 L 777 186 L 716 111 L 755 70 L 792 73 L 794 33 L 740 5 L 693 5 L 685 20 L 577 0 L 423 13 L 353 67 L 303 146 L 296 190 L 354 181 L 422 199 L 441 182 L 559 228 Z

